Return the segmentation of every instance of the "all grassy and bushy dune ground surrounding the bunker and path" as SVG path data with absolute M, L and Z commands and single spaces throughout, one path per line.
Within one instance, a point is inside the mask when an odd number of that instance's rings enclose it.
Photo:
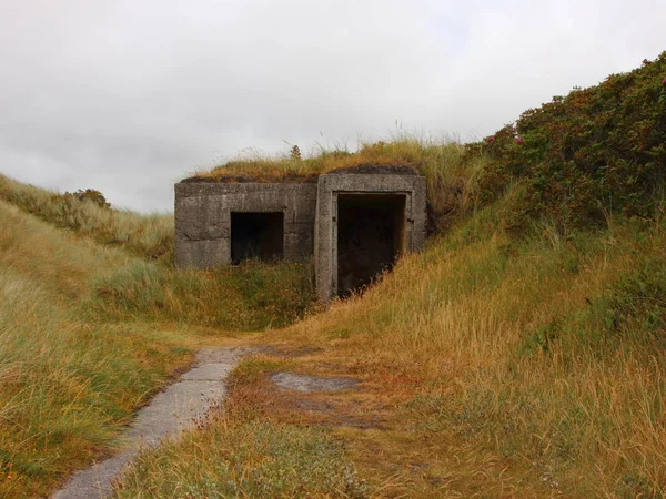
M 0 177 L 0 496 L 46 493 L 108 450 L 192 347 L 287 326 L 261 340 L 289 355 L 241 364 L 226 409 L 143 455 L 119 497 L 664 497 L 665 77 L 666 52 L 475 144 L 213 172 L 427 176 L 446 230 L 295 324 L 306 268 L 176 271 L 169 217 Z M 287 396 L 281 369 L 361 388 Z

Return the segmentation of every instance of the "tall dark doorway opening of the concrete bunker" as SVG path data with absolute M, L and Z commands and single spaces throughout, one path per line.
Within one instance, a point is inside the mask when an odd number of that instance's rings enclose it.
M 370 284 L 405 247 L 405 194 L 337 195 L 337 295 Z

